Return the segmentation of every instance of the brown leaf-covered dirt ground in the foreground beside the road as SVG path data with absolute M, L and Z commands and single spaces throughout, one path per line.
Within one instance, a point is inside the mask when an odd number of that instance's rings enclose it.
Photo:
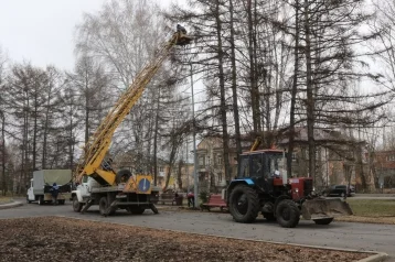
M 357 261 L 365 253 L 58 217 L 0 220 L 0 261 Z

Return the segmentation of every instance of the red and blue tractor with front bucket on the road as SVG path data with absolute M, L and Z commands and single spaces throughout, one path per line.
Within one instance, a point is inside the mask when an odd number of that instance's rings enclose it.
M 239 156 L 238 174 L 226 188 L 226 204 L 236 222 L 254 222 L 259 214 L 293 228 L 300 216 L 329 225 L 335 216 L 352 215 L 348 203 L 314 194 L 311 177 L 289 178 L 281 150 L 258 150 Z

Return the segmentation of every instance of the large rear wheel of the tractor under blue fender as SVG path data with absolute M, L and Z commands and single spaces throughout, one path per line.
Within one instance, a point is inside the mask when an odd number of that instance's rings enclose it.
M 246 186 L 237 185 L 229 196 L 229 211 L 236 222 L 254 222 L 260 209 L 257 193 Z

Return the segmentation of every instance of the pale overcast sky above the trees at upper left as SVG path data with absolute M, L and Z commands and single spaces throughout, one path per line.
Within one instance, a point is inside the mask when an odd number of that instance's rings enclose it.
M 106 1 L 0 0 L 0 46 L 11 61 L 71 70 L 75 25 Z M 174 1 L 158 0 L 162 6 Z

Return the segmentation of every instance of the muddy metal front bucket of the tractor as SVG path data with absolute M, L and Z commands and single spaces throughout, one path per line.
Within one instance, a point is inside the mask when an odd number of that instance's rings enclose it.
M 305 219 L 322 219 L 353 215 L 348 203 L 339 198 L 316 198 L 306 200 L 301 206 Z

